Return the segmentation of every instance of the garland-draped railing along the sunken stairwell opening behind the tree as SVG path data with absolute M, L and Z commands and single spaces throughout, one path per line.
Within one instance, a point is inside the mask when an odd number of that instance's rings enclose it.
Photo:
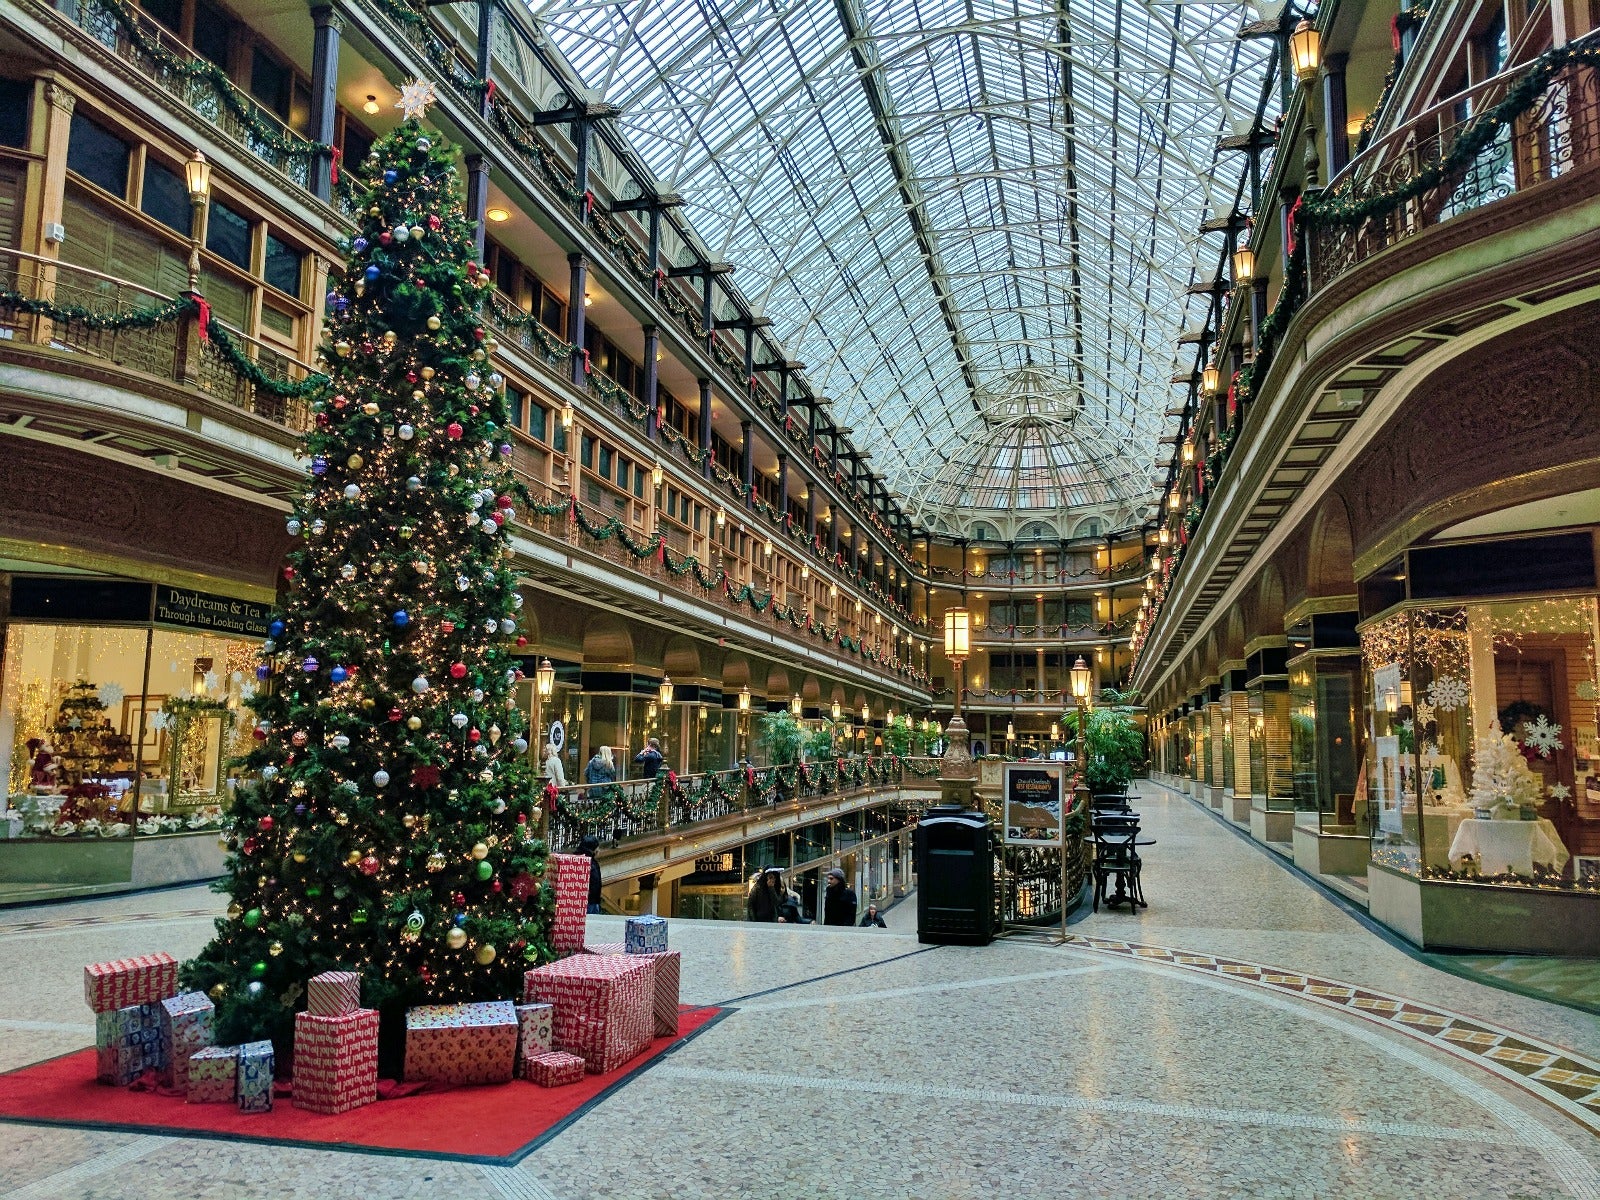
M 734 814 L 776 811 L 781 805 L 848 795 L 874 787 L 931 787 L 936 758 L 834 758 L 794 766 L 738 766 L 728 771 L 629 779 L 616 784 L 547 787 L 546 819 L 555 850 L 570 850 L 586 834 L 602 846 L 722 821 Z

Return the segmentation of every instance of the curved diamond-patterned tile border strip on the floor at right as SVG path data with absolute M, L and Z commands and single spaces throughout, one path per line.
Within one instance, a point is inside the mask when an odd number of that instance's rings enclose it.
M 1562 1046 L 1539 1042 L 1525 1034 L 1514 1034 L 1445 1008 L 1280 966 L 1262 966 L 1213 954 L 1173 950 L 1165 946 L 1123 942 L 1082 933 L 1069 934 L 1067 944 L 1118 958 L 1160 963 L 1240 984 L 1253 984 L 1280 995 L 1296 995 L 1326 1008 L 1365 1018 L 1493 1070 L 1530 1094 L 1554 1104 L 1590 1133 L 1600 1136 L 1600 1062 L 1579 1058 Z

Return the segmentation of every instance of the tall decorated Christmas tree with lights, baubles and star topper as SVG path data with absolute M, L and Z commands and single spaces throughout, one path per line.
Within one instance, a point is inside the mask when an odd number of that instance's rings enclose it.
M 477 315 L 488 277 L 453 150 L 419 122 L 426 91 L 406 88 L 405 122 L 373 147 L 328 296 L 330 381 L 256 670 L 256 782 L 218 885 L 232 904 L 184 966 L 219 1042 L 286 1050 L 326 970 L 360 971 L 392 1037 L 410 1005 L 517 997 L 522 971 L 554 958 L 512 704 L 522 598 L 506 397 Z

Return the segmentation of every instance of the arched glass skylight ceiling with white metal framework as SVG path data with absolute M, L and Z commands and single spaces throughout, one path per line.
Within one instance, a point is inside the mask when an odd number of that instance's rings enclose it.
M 1198 230 L 1245 162 L 1216 141 L 1272 69 L 1237 37 L 1261 8 L 533 3 L 907 515 L 1002 536 L 1154 504 L 1186 293 L 1222 248 Z

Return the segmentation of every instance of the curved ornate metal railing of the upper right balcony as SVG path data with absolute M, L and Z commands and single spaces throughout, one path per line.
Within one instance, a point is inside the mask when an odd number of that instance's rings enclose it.
M 1360 211 L 1362 221 L 1317 221 L 1310 232 L 1310 283 L 1317 291 L 1389 246 L 1451 218 L 1526 192 L 1600 162 L 1600 77 L 1568 64 L 1549 74 L 1536 64 L 1515 67 L 1435 104 L 1357 155 L 1318 197 Z M 1541 80 L 1531 98 L 1518 91 Z M 1482 117 L 1498 104 L 1517 110 L 1488 128 Z M 1469 141 L 1462 141 L 1462 134 Z M 1397 189 L 1432 182 L 1398 205 Z

